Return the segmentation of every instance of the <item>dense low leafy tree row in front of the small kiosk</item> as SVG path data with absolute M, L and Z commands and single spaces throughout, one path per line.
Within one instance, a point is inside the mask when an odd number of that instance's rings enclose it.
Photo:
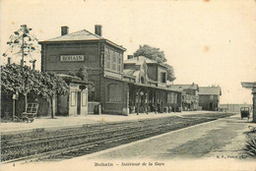
M 39 73 L 28 66 L 7 64 L 1 66 L 1 91 L 24 94 L 26 105 L 27 95 L 30 92 L 50 98 L 53 118 L 52 99 L 56 95 L 66 94 L 68 85 L 55 73 Z

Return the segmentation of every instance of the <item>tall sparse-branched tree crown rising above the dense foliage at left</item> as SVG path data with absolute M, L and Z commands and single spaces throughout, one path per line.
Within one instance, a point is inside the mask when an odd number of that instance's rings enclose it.
M 7 42 L 9 48 L 3 53 L 3 56 L 19 55 L 22 57 L 21 65 L 24 66 L 25 56 L 30 55 L 32 57 L 32 52 L 38 49 L 38 39 L 31 34 L 31 30 L 32 28 L 28 28 L 27 25 L 22 25 L 21 28 L 14 31 Z

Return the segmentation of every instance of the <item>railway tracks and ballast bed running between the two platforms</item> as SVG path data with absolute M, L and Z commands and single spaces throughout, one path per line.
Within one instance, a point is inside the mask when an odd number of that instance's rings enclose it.
M 1 160 L 2 163 L 9 163 L 72 158 L 213 120 L 216 118 L 167 117 L 38 134 L 2 136 L 4 139 L 1 142 Z

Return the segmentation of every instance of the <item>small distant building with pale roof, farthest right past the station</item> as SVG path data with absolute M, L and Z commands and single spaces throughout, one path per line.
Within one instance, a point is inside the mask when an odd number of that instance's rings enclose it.
M 203 110 L 217 111 L 222 95 L 221 86 L 200 86 L 199 87 L 199 106 Z

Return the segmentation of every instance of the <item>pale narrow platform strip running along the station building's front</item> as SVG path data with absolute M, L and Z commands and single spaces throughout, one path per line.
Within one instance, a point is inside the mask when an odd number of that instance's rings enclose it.
M 18 132 L 30 132 L 38 129 L 61 129 L 68 127 L 79 127 L 87 124 L 103 124 L 110 122 L 123 122 L 143 119 L 156 119 L 160 117 L 169 116 L 183 116 L 189 114 L 205 114 L 214 113 L 213 111 L 183 111 L 183 112 L 172 112 L 172 113 L 140 113 L 130 114 L 128 116 L 120 115 L 87 115 L 87 116 L 70 116 L 60 117 L 56 116 L 54 119 L 50 117 L 36 118 L 32 123 L 27 122 L 1 122 L 1 134 L 13 134 Z

